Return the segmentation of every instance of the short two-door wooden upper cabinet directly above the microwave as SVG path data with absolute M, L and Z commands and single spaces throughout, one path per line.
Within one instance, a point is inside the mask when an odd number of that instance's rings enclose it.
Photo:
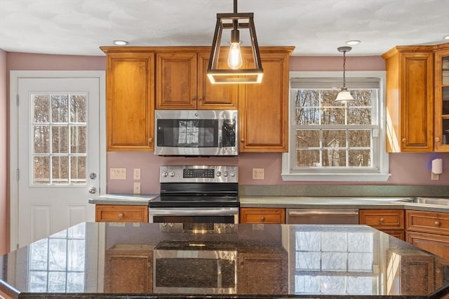
M 238 108 L 238 85 L 209 82 L 209 55 L 210 51 L 156 54 L 156 109 Z

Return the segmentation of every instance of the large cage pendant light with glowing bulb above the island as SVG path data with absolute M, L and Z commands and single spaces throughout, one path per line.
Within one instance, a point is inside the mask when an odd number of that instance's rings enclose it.
M 234 13 L 217 13 L 217 24 L 213 36 L 212 48 L 207 75 L 210 83 L 260 83 L 262 82 L 263 69 L 260 60 L 260 51 L 257 44 L 257 36 L 254 27 L 254 13 L 237 13 L 237 0 L 234 0 Z M 230 46 L 222 47 L 223 30 L 231 30 Z M 240 48 L 240 29 L 248 29 L 253 51 L 253 68 L 242 68 L 243 59 Z M 219 68 L 220 55 L 228 55 L 227 67 Z

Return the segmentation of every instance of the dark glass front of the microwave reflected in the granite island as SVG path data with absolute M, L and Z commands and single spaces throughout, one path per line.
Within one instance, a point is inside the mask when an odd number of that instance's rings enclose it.
M 156 287 L 234 288 L 235 286 L 234 260 L 157 258 L 155 267 Z

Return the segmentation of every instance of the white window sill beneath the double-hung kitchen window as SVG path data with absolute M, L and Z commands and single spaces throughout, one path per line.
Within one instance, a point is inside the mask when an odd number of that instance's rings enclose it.
M 391 174 L 281 174 L 283 181 L 387 181 Z

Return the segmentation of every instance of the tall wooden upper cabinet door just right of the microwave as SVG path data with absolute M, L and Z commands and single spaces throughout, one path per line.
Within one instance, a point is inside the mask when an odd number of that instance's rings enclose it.
M 246 84 L 239 97 L 240 151 L 288 151 L 289 53 L 261 53 L 264 76 L 260 84 Z M 245 65 L 253 65 L 251 57 Z

